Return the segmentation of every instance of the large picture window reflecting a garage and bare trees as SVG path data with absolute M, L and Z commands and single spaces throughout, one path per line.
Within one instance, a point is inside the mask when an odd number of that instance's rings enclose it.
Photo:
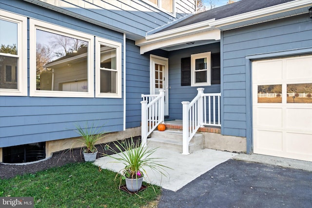
M 94 97 L 94 36 L 30 19 L 30 96 Z

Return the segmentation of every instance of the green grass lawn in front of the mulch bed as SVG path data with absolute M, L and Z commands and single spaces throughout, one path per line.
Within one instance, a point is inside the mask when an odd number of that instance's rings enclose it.
M 139 208 L 156 200 L 160 187 L 136 194 L 118 189 L 116 173 L 73 163 L 0 181 L 0 196 L 34 197 L 35 208 Z

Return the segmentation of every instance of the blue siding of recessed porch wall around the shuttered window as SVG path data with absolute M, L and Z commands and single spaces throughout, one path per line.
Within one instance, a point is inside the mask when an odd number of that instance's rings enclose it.
M 169 117 L 182 119 L 182 101 L 191 102 L 197 95 L 198 87 L 181 86 L 181 58 L 191 57 L 211 51 L 212 54 L 220 53 L 220 43 L 177 50 L 169 53 Z M 204 87 L 204 93 L 220 93 L 220 84 L 213 84 Z

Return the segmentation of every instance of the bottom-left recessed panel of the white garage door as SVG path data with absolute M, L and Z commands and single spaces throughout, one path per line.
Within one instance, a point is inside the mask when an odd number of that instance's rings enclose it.
M 267 130 L 257 130 L 255 132 L 258 138 L 256 142 L 257 150 L 273 150 L 273 151 L 282 151 L 283 150 L 283 132 L 277 131 L 267 131 Z M 256 150 L 254 153 L 259 153 Z

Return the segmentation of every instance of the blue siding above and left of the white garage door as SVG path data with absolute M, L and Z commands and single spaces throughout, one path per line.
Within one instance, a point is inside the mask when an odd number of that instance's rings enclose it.
M 250 71 L 251 59 L 247 57 L 262 54 L 261 58 L 272 58 L 274 56 L 270 54 L 283 51 L 289 51 L 284 56 L 295 56 L 297 54 L 295 52 L 292 54 L 291 50 L 312 47 L 311 34 L 312 24 L 308 15 L 223 32 L 222 134 L 247 137 L 251 147 L 252 72 Z M 310 51 L 312 53 L 312 49 Z

